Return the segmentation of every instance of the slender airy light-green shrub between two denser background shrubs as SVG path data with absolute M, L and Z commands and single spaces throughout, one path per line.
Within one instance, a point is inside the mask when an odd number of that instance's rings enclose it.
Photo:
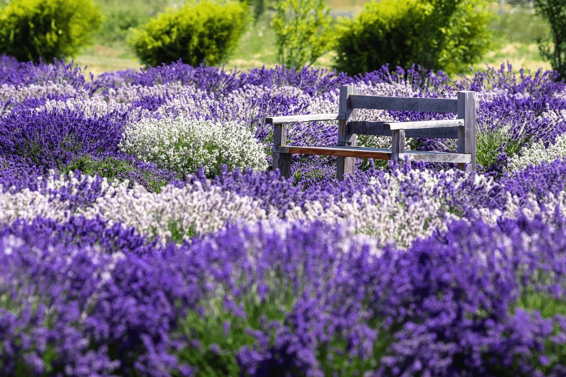
M 324 0 L 280 0 L 273 15 L 278 63 L 311 66 L 331 48 L 332 29 Z

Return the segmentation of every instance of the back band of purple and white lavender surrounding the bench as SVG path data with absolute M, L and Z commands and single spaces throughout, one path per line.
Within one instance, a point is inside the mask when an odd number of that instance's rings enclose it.
M 139 72 L 104 74 L 91 81 L 84 80 L 80 69 L 61 62 L 8 62 L 1 69 L 5 72 L 0 86 L 0 119 L 4 125 L 0 135 L 6 145 L 0 155 L 3 170 L 37 172 L 44 167 L 84 171 L 89 166 L 91 174 L 108 175 L 114 169 L 123 171 L 122 179 L 138 180 L 156 190 L 174 177 L 196 172 L 199 165 L 211 176 L 220 172 L 222 163 L 233 163 L 230 168 L 264 169 L 271 163 L 271 127 L 263 123 L 264 117 L 337 111 L 337 87 L 341 84 L 356 84 L 360 93 L 387 96 L 454 97 L 456 90 L 476 90 L 478 159 L 482 173 L 496 179 L 517 166 L 509 159 L 534 154 L 537 143 L 545 148 L 555 144 L 566 128 L 562 113 L 566 89 L 555 81 L 555 73 L 521 71 L 517 77 L 511 66 L 488 68 L 456 81 L 441 72 L 414 68 L 390 73 L 388 67 L 348 77 L 314 69 L 295 72 L 278 67 L 240 72 L 194 68 L 179 62 Z M 445 116 L 400 111 L 359 113 L 360 119 L 383 120 Z M 76 127 L 70 128 L 69 122 Z M 14 132 L 15 124 L 22 124 L 23 132 Z M 211 128 L 225 128 L 226 135 L 234 136 L 210 136 L 207 132 Z M 289 142 L 335 144 L 335 128 L 335 124 L 325 123 L 295 125 L 289 131 Z M 37 135 L 52 140 L 36 141 L 33 137 Z M 214 153 L 209 153 L 207 143 L 201 141 L 211 137 L 215 140 Z M 187 139 L 191 140 L 188 144 Z M 216 152 L 226 150 L 226 140 L 232 139 L 238 141 L 230 149 L 251 145 L 249 153 L 246 149 L 235 150 L 232 155 Z M 359 144 L 385 147 L 389 141 L 361 137 Z M 427 139 L 408 140 L 406 147 L 455 148 L 453 142 Z M 187 153 L 187 148 L 195 152 Z M 192 161 L 183 163 L 192 155 Z M 330 181 L 332 159 L 294 159 L 295 181 L 305 185 Z M 358 163 L 358 170 L 367 168 L 367 162 Z

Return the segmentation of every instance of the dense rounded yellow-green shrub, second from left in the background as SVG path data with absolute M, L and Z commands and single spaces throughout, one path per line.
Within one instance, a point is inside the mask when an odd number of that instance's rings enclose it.
M 165 12 L 140 29 L 134 29 L 131 45 L 141 62 L 149 66 L 179 58 L 197 66 L 224 62 L 237 45 L 247 21 L 247 6 L 203 1 L 178 12 Z

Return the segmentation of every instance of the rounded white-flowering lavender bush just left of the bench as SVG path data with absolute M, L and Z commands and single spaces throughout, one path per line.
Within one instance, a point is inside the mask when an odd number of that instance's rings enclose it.
M 145 119 L 126 129 L 120 148 L 182 175 L 194 173 L 201 166 L 207 175 L 219 174 L 223 164 L 229 170 L 267 168 L 263 146 L 238 122 Z

